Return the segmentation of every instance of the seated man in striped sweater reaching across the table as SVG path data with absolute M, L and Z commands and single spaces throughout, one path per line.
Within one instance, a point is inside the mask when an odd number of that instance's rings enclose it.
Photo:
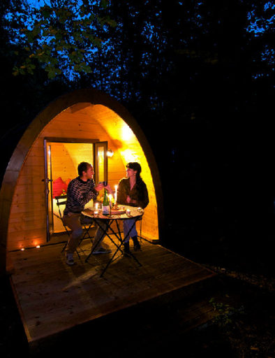
M 91 164 L 82 162 L 77 167 L 78 177 L 71 180 L 67 190 L 67 203 L 64 210 L 63 221 L 64 224 L 72 230 L 68 244 L 66 246 L 66 264 L 73 265 L 73 254 L 82 237 L 82 224 L 80 222 L 81 212 L 85 204 L 90 200 L 95 200 L 98 192 L 103 189 L 103 183 L 95 185 L 94 183 L 94 169 Z M 108 192 L 112 194 L 112 189 L 108 184 L 106 187 Z M 94 238 L 94 243 L 97 245 L 103 240 L 103 231 L 98 227 Z M 94 253 L 106 253 L 110 250 L 98 248 Z

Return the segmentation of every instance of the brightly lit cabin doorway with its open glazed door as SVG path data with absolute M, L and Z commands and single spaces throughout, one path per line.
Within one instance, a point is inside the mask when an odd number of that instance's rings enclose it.
M 107 142 L 73 138 L 45 138 L 45 204 L 47 217 L 47 241 L 53 235 L 65 233 L 60 220 L 59 210 L 54 196 L 59 196 L 59 185 L 68 185 L 78 176 L 80 162 L 89 162 L 94 166 L 95 182 L 107 180 Z M 57 184 L 58 183 L 58 184 Z M 66 186 L 62 189 L 66 192 Z M 88 205 L 88 204 L 87 204 Z M 63 212 L 62 208 L 61 212 Z

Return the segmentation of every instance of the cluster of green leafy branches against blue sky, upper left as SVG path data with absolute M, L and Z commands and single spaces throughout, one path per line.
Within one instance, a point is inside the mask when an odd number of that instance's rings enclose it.
M 89 2 L 66 1 L 66 6 L 42 6 L 26 8 L 23 15 L 29 20 L 20 29 L 18 43 L 24 55 L 18 58 L 13 69 L 14 76 L 33 73 L 38 62 L 47 71 L 48 78 L 61 73 L 90 73 L 89 62 L 94 51 L 104 44 L 100 34 L 117 24 L 107 15 L 108 1 L 98 1 L 99 6 Z

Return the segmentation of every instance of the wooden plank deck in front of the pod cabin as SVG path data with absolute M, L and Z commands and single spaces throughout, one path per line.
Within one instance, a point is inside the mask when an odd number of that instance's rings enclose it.
M 141 267 L 132 258 L 119 257 L 101 278 L 109 254 L 92 255 L 85 263 L 90 244 L 82 243 L 81 260 L 76 256 L 76 264 L 68 266 L 63 245 L 9 253 L 11 282 L 30 345 L 140 303 L 187 296 L 215 276 L 161 245 L 142 241 L 142 251 L 135 252 Z M 105 245 L 113 248 L 107 239 Z

